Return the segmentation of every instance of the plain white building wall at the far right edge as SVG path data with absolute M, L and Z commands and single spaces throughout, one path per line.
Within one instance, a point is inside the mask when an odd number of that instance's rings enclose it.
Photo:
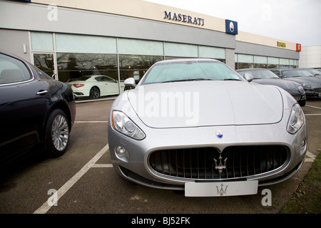
M 299 60 L 300 68 L 321 68 L 321 46 L 302 47 Z

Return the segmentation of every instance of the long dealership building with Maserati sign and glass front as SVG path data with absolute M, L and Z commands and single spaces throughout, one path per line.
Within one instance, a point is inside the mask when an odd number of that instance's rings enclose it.
M 170 58 L 215 58 L 234 69 L 299 66 L 298 43 L 143 0 L 0 0 L 0 12 L 0 49 L 60 81 L 89 75 L 138 79 Z

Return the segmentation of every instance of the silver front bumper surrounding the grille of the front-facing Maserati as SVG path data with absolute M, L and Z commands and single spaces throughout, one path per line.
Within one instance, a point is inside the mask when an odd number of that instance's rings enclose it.
M 267 172 L 260 174 L 243 175 L 242 177 L 224 177 L 224 181 L 258 180 L 259 185 L 270 185 L 287 180 L 300 168 L 307 150 L 306 124 L 295 135 L 291 135 L 286 130 L 287 120 L 271 125 L 229 125 L 171 129 L 148 128 L 138 118 L 134 121 L 146 133 L 146 138 L 141 141 L 128 138 L 108 125 L 111 160 L 118 175 L 148 187 L 183 190 L 186 182 L 205 180 L 203 177 L 182 177 L 158 172 L 153 168 L 150 157 L 153 152 L 159 150 L 215 147 L 218 151 L 223 152 L 225 148 L 231 146 L 277 145 L 285 147 L 288 153 L 286 160 L 276 169 L 267 170 Z M 217 130 L 224 133 L 223 138 L 219 139 L 215 136 Z M 305 140 L 305 144 L 302 146 L 303 140 Z M 126 150 L 123 155 L 116 153 L 116 147 L 118 146 Z M 232 160 L 231 158 L 228 159 Z M 218 157 L 216 157 L 216 160 L 219 162 Z M 214 162 L 212 163 L 214 164 Z M 221 177 L 206 179 L 210 182 L 222 180 Z

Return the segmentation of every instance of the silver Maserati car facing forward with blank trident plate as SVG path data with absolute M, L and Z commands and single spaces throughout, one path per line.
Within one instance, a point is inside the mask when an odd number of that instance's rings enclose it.
M 127 78 L 108 121 L 114 170 L 187 197 L 257 194 L 291 177 L 307 151 L 305 116 L 277 86 L 250 83 L 220 61 L 155 63 Z

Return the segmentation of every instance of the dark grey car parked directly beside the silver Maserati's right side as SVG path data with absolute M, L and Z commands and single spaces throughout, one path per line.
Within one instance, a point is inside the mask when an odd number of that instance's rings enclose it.
M 297 103 L 301 106 L 305 106 L 307 100 L 305 97 L 305 90 L 299 83 L 282 80 L 275 73 L 272 73 L 272 71 L 263 68 L 240 69 L 237 72 L 240 76 L 243 76 L 243 78 L 245 73 L 250 73 L 253 76 L 253 82 L 255 83 L 280 86 L 280 88 L 290 93 L 292 97 L 297 100 Z

